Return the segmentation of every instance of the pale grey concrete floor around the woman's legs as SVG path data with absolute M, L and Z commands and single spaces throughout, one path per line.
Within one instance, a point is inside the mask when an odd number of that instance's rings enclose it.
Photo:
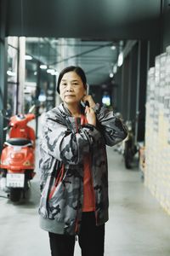
M 140 172 L 124 168 L 122 155 L 108 148 L 110 220 L 105 256 L 169 256 L 170 216 L 144 187 Z M 38 173 L 26 201 L 13 204 L 0 191 L 0 256 L 49 256 L 48 233 L 40 230 Z M 75 256 L 80 256 L 78 242 Z

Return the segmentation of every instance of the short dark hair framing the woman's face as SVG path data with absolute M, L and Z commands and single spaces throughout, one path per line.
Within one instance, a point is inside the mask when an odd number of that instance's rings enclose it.
M 59 78 L 58 78 L 58 82 L 57 82 L 57 91 L 58 92 L 59 92 L 59 84 L 60 84 L 60 81 L 61 81 L 62 77 L 64 76 L 65 73 L 68 73 L 68 72 L 71 72 L 71 71 L 77 73 L 77 75 L 82 79 L 82 83 L 84 84 L 84 87 L 86 88 L 87 79 L 86 79 L 86 75 L 85 75 L 84 71 L 82 70 L 82 67 L 70 66 L 70 67 L 65 67 L 59 73 Z

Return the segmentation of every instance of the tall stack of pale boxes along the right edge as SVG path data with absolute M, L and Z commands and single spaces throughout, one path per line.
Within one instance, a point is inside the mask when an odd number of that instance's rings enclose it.
M 144 183 L 170 214 L 170 47 L 148 72 Z

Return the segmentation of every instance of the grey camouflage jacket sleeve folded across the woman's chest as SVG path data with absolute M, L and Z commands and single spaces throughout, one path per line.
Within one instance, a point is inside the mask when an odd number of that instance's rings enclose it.
M 93 125 L 82 126 L 80 123 L 80 119 L 69 117 L 64 125 L 46 114 L 40 148 L 64 163 L 82 163 L 91 145 L 101 140 L 101 134 Z

